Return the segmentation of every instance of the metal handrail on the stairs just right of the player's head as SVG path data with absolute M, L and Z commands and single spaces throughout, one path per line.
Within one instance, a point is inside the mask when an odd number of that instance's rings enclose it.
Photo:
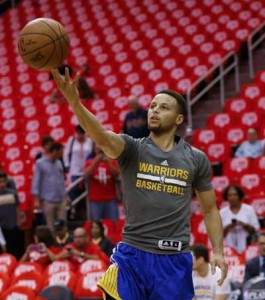
M 230 57 L 234 56 L 233 63 L 229 64 L 224 68 L 223 64 Z M 191 96 L 192 91 L 196 86 L 203 82 L 208 76 L 210 76 L 216 69 L 219 69 L 220 73 L 215 77 L 211 82 L 193 98 Z M 187 110 L 188 110 L 188 125 L 192 128 L 192 105 L 195 104 L 206 92 L 208 92 L 217 82 L 220 81 L 220 101 L 221 105 L 224 106 L 225 103 L 225 89 L 224 89 L 224 76 L 230 72 L 232 69 L 235 69 L 235 89 L 239 92 L 240 83 L 239 83 L 239 69 L 238 69 L 238 56 L 235 52 L 229 52 L 220 62 L 219 65 L 213 66 L 204 76 L 197 79 L 193 84 L 188 88 L 187 91 Z

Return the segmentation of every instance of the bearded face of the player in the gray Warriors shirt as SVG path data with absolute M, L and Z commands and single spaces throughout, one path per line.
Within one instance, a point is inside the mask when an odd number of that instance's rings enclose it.
M 159 94 L 154 97 L 148 110 L 148 128 L 155 133 L 165 133 L 173 128 L 176 129 L 179 118 L 183 117 L 179 114 L 176 100 L 167 95 Z

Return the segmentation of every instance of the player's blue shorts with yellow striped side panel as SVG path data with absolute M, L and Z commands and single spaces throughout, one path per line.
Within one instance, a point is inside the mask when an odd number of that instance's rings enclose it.
M 190 253 L 161 255 L 119 243 L 111 261 L 99 287 L 114 299 L 191 300 L 194 296 Z

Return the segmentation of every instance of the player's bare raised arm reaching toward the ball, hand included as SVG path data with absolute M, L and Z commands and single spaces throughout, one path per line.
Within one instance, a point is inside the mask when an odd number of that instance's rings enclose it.
M 68 68 L 65 70 L 65 78 L 60 76 L 58 70 L 52 70 L 52 75 L 59 90 L 75 112 L 82 128 L 108 157 L 118 158 L 125 143 L 118 134 L 106 130 L 97 118 L 82 105 L 77 89 L 79 75 L 77 74 L 71 81 Z

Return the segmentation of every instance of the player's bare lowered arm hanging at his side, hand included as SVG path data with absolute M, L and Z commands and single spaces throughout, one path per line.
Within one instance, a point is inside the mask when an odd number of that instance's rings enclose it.
M 221 269 L 222 276 L 218 280 L 218 285 L 221 285 L 227 275 L 227 265 L 224 260 L 223 225 L 216 206 L 215 193 L 214 190 L 196 191 L 196 195 L 201 205 L 205 226 L 213 248 L 211 259 L 212 273 L 215 273 L 216 266 Z

